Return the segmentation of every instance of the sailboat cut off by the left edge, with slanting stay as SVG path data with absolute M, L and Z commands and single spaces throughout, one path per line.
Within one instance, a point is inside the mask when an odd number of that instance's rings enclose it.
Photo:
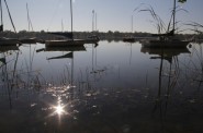
M 10 11 L 9 11 L 9 8 L 8 8 L 8 4 L 7 4 L 7 1 L 4 0 L 4 3 L 7 5 L 7 10 L 9 12 L 9 16 L 10 16 L 10 20 L 11 20 L 11 23 L 12 23 L 12 26 L 15 31 L 15 27 L 14 27 L 14 24 L 13 24 L 13 21 L 12 21 L 12 17 L 11 17 L 11 14 L 10 14 Z M 0 12 L 1 12 L 1 24 L 0 24 L 0 33 L 3 32 L 3 10 L 2 10 L 2 1 L 0 0 Z M 16 33 L 16 31 L 15 31 Z M 19 44 L 19 39 L 18 38 L 7 38 L 7 37 L 0 37 L 0 46 L 15 46 L 16 44 Z

